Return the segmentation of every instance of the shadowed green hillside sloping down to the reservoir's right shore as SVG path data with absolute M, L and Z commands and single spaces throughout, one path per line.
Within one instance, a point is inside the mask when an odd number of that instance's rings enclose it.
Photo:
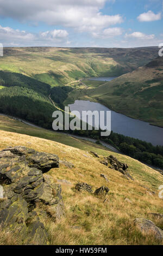
M 93 81 L 91 81 L 93 84 Z M 90 99 L 129 117 L 163 127 L 163 58 L 155 58 L 133 72 L 69 94 L 74 99 Z

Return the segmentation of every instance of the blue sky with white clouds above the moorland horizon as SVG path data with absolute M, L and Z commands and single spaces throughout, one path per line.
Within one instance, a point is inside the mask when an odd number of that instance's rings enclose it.
M 3 46 L 163 43 L 163 0 L 0 0 Z

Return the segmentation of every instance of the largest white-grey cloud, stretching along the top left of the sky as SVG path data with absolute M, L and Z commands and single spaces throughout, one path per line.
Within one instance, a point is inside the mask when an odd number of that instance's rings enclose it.
M 96 31 L 123 21 L 120 14 L 103 15 L 100 10 L 112 0 L 0 0 L 0 15 L 19 21 L 46 22 Z

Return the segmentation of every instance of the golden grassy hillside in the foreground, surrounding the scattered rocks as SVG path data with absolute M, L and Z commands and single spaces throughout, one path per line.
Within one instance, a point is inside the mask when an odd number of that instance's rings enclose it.
M 48 172 L 55 181 L 66 179 L 71 182 L 61 183 L 66 217 L 57 223 L 41 218 L 48 229 L 52 245 L 161 245 L 153 236 L 143 236 L 133 223 L 135 218 L 144 217 L 163 228 L 161 219 L 149 215 L 150 212 L 163 213 L 162 199 L 158 197 L 158 187 L 163 182 L 159 172 L 135 159 L 109 152 L 100 145 L 79 140 L 76 143 L 76 139 L 67 135 L 60 136 L 58 133 L 45 132 L 44 129 L 28 127 L 7 117 L 1 117 L 0 129 L 0 150 L 9 145 L 24 145 L 38 151 L 58 154 L 61 160 L 74 164 L 73 169 L 60 164 L 59 169 Z M 41 136 L 43 138 L 38 138 Z M 101 156 L 112 153 L 127 163 L 134 181 L 126 180 L 120 172 L 101 164 L 89 153 L 90 150 Z M 101 174 L 108 177 L 109 183 L 100 177 Z M 77 192 L 74 186 L 78 181 L 89 183 L 93 190 L 108 186 L 110 191 L 105 203 L 104 198 Z M 131 203 L 125 201 L 126 198 Z M 6 237 L 1 230 L 0 242 L 19 244 L 20 239 L 15 239 L 14 234 L 10 235 L 9 230 Z

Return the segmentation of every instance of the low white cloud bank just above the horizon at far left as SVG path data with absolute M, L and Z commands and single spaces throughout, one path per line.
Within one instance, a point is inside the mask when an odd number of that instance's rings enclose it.
M 33 34 L 0 25 L 0 38 L 4 46 L 58 46 L 70 44 L 68 32 L 62 29 Z

